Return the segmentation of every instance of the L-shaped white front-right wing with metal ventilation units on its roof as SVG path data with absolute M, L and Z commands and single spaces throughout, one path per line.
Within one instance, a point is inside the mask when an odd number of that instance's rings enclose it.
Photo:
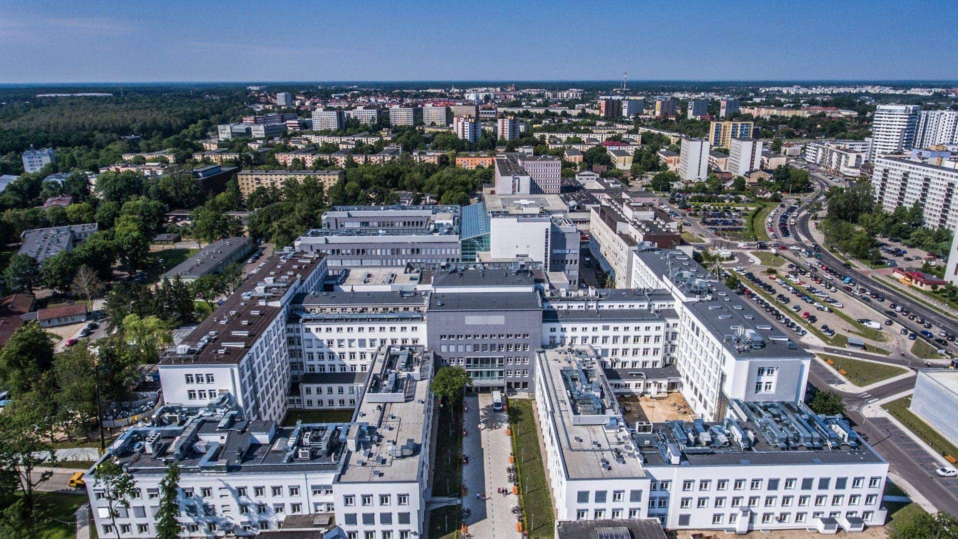
M 735 400 L 719 423 L 631 426 L 587 347 L 539 351 L 536 372 L 559 521 L 651 518 L 740 533 L 884 524 L 888 463 L 842 419 Z

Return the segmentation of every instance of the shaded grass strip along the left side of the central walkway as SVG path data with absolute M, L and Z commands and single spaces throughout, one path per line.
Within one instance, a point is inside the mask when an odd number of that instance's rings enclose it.
M 463 408 L 461 404 L 439 409 L 436 461 L 432 473 L 435 496 L 461 497 L 463 492 Z M 473 435 L 478 436 L 478 433 Z M 461 505 L 447 505 L 429 513 L 429 537 L 459 537 Z

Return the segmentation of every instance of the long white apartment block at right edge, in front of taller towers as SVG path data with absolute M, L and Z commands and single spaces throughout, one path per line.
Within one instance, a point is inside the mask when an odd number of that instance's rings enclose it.
M 958 229 L 958 161 L 947 159 L 942 165 L 889 155 L 875 160 L 872 193 L 876 203 L 887 212 L 899 206 L 910 208 L 918 202 L 924 210 L 924 225 Z

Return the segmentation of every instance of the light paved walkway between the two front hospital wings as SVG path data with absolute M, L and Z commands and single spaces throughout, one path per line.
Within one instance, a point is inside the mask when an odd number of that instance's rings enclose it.
M 512 450 L 506 435 L 509 426 L 506 412 L 492 411 L 490 393 L 468 395 L 466 406 L 468 434 L 463 438 L 463 451 L 469 457 L 469 463 L 463 467 L 463 479 L 468 488 L 463 505 L 471 511 L 466 519 L 468 532 L 483 539 L 518 539 L 521 533 L 515 531 L 517 519 L 512 513 L 518 497 L 496 492 L 498 488 L 512 486 L 506 471 Z

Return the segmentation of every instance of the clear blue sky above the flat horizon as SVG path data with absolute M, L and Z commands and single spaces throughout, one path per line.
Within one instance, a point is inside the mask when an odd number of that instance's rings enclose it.
M 955 80 L 958 2 L 0 3 L 0 82 Z

